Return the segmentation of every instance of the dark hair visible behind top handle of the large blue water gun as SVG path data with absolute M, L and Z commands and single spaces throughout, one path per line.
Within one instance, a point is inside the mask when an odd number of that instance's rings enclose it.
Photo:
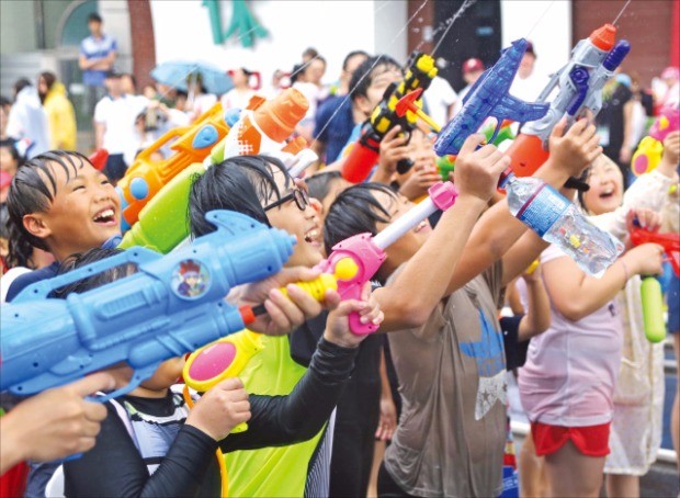
M 87 264 L 94 263 L 97 261 L 102 261 L 106 258 L 111 258 L 113 256 L 120 254 L 123 251 L 121 249 L 113 248 L 95 248 L 90 249 L 89 251 L 71 254 L 66 258 L 61 264 L 59 265 L 59 270 L 57 274 L 64 274 L 82 268 Z M 137 265 L 134 263 L 123 263 L 118 267 L 111 268 L 106 271 L 98 273 L 93 276 L 88 276 L 86 279 L 76 281 L 63 287 L 59 287 L 53 292 L 55 297 L 59 297 L 61 299 L 66 298 L 69 294 L 77 292 L 83 293 L 86 291 L 91 291 L 92 288 L 101 287 L 107 283 L 114 282 L 116 280 L 123 279 L 131 273 L 135 273 L 137 271 Z

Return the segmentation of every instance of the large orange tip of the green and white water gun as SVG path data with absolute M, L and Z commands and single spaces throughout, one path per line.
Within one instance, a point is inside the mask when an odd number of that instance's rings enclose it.
M 305 95 L 294 88 L 288 88 L 260 105 L 254 111 L 253 118 L 268 137 L 274 142 L 283 142 L 305 117 L 308 109 L 309 102 Z

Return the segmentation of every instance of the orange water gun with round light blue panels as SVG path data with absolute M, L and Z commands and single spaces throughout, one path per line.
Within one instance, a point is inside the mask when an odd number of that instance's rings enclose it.
M 116 186 L 121 196 L 121 229 L 128 230 L 137 222 L 141 208 L 165 184 L 189 165 L 204 160 L 228 132 L 229 125 L 218 102 L 193 125 L 170 129 L 139 152 Z M 152 161 L 151 154 L 172 140 L 170 148 L 174 154 L 168 159 Z

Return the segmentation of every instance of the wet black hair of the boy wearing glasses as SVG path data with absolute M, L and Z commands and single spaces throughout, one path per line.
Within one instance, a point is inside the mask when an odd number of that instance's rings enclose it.
M 272 195 L 275 201 L 282 196 L 274 179 L 276 171 L 285 174 L 286 189 L 293 184 L 283 162 L 268 156 L 236 156 L 197 176 L 189 194 L 192 235 L 201 237 L 215 231 L 205 219 L 205 214 L 213 210 L 236 211 L 271 227 L 262 204 Z

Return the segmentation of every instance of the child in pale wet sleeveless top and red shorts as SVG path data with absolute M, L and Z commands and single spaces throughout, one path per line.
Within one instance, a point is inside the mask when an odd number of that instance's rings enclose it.
M 596 162 L 591 184 L 586 197 L 593 205 L 616 207 L 623 178 L 615 165 Z M 601 279 L 586 275 L 555 247 L 541 257 L 553 322 L 532 341 L 519 385 L 552 496 L 599 494 L 623 346 L 615 298 L 631 276 L 660 273 L 661 256 L 656 245 L 634 248 Z

